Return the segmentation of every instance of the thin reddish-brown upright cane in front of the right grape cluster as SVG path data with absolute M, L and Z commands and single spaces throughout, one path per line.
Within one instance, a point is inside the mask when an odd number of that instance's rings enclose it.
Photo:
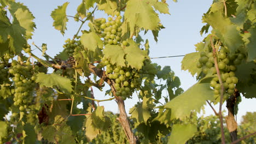
M 218 62 L 217 62 L 217 57 L 216 57 L 216 47 L 213 45 L 213 41 L 212 41 L 212 35 L 211 35 L 211 46 L 212 46 L 212 50 L 213 50 L 213 57 L 214 57 L 214 65 L 217 71 L 217 75 L 218 75 L 218 79 L 219 79 L 219 83 L 220 83 L 220 100 L 219 100 L 219 121 L 220 121 L 220 130 L 222 133 L 222 144 L 225 144 L 225 135 L 224 135 L 224 127 L 223 127 L 223 116 L 222 116 L 222 102 L 223 102 L 223 92 L 224 92 L 224 86 L 222 83 L 222 79 L 220 77 L 220 72 L 219 72 L 219 67 L 218 67 Z M 220 43 L 218 43 L 219 46 Z

